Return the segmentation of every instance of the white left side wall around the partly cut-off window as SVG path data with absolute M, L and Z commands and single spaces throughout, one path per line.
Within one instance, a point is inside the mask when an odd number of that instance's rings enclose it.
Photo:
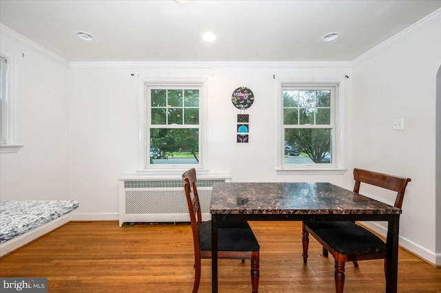
M 69 64 L 2 30 L 17 62 L 18 153 L 0 155 L 0 197 L 70 199 Z

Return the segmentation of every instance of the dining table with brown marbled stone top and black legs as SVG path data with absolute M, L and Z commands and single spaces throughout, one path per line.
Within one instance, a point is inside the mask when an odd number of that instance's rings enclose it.
M 329 182 L 222 182 L 213 185 L 209 210 L 212 292 L 218 292 L 220 221 L 387 221 L 385 292 L 397 292 L 400 208 Z

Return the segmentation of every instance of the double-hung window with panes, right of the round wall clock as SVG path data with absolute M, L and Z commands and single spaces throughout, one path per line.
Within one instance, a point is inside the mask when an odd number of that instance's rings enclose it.
M 336 168 L 338 85 L 282 83 L 282 169 Z

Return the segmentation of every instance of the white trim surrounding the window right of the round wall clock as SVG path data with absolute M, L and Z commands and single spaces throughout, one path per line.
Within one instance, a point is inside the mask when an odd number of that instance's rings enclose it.
M 312 80 L 312 81 L 311 81 Z M 283 149 L 285 142 L 283 141 L 283 86 L 285 85 L 332 85 L 336 86 L 336 98 L 334 101 L 335 107 L 335 132 L 334 139 L 334 163 L 329 166 L 317 166 L 311 164 L 310 166 L 299 166 L 298 168 L 289 168 L 283 164 Z M 280 79 L 278 80 L 278 142 L 277 142 L 277 175 L 291 175 L 291 174 L 343 174 L 347 171 L 345 168 L 345 127 L 343 118 L 345 117 L 345 79 L 344 78 L 324 78 L 324 79 Z

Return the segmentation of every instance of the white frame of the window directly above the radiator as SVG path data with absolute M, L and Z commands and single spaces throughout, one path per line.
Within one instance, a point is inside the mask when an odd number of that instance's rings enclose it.
M 140 103 L 140 170 L 138 173 L 154 173 L 155 175 L 181 175 L 189 168 L 195 168 L 198 173 L 205 173 L 207 166 L 207 80 L 205 78 L 141 78 L 141 103 Z M 199 89 L 199 150 L 198 164 L 150 164 L 150 93 L 149 89 Z M 177 125 L 174 128 L 184 128 Z

